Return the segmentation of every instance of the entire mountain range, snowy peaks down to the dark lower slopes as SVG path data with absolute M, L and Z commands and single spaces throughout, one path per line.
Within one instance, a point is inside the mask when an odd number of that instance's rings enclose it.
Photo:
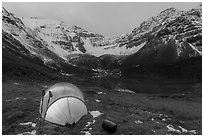
M 202 5 L 166 9 L 115 38 L 62 21 L 18 17 L 2 8 L 2 62 L 7 76 L 33 69 L 41 75 L 44 68 L 61 74 L 106 70 L 200 78 Z

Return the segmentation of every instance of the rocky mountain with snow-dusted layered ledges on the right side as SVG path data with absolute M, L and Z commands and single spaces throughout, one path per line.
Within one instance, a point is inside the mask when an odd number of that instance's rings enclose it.
M 130 60 L 130 65 L 168 63 L 201 56 L 201 18 L 201 8 L 187 12 L 170 8 L 148 19 L 125 36 L 124 43 L 130 47 L 146 42 L 142 49 L 127 57 L 126 63 Z

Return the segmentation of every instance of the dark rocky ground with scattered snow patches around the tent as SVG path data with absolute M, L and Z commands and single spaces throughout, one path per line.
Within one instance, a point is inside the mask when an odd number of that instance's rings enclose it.
M 77 84 L 77 81 L 78 82 Z M 12 134 L 91 134 L 152 135 L 202 134 L 202 85 L 194 84 L 185 93 L 145 94 L 131 90 L 110 90 L 84 82 L 67 80 L 83 92 L 88 114 L 75 127 L 45 123 L 39 132 L 39 103 L 42 89 L 61 82 L 3 80 L 2 133 Z M 178 89 L 179 90 L 179 89 Z M 115 133 L 102 128 L 109 119 L 118 125 Z

